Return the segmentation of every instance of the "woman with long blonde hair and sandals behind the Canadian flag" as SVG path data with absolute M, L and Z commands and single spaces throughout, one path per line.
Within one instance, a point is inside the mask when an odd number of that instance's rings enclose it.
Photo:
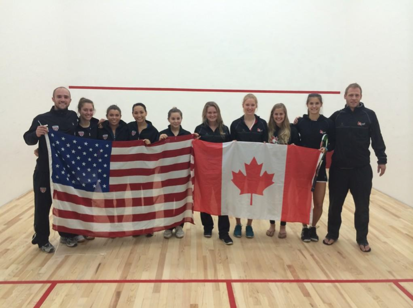
M 268 120 L 268 142 L 272 144 L 298 144 L 298 131 L 294 126 L 290 125 L 288 120 L 287 108 L 284 104 L 279 103 L 273 106 Z M 285 230 L 286 222 L 281 222 L 278 237 L 284 239 L 287 237 Z M 275 233 L 275 221 L 270 221 L 270 228 L 267 230 L 268 236 L 273 236 Z

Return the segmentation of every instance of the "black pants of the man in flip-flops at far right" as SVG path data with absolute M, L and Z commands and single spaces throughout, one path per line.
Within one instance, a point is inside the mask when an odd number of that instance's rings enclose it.
M 339 238 L 342 224 L 341 213 L 347 193 L 353 196 L 356 210 L 354 212 L 354 227 L 356 228 L 356 241 L 359 244 L 368 243 L 368 206 L 372 186 L 373 171 L 367 165 L 361 168 L 340 169 L 330 168 L 328 182 L 330 205 L 328 207 L 327 238 Z

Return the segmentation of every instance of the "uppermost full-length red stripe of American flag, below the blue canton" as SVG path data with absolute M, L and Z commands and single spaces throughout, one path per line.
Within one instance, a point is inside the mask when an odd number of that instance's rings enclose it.
M 100 208 L 119 208 L 119 207 L 131 207 L 131 206 L 149 206 L 160 203 L 181 201 L 187 196 L 191 196 L 192 188 L 189 188 L 180 193 L 165 194 L 155 197 L 142 197 L 142 198 L 127 198 L 127 199 L 92 199 L 79 197 L 69 193 L 59 192 L 57 190 L 53 193 L 53 199 L 63 202 L 70 202 L 87 207 L 100 207 Z

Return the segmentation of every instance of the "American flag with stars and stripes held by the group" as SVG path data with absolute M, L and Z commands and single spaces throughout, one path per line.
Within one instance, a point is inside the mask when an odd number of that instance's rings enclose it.
M 122 237 L 194 223 L 193 135 L 145 146 L 49 131 L 46 141 L 54 230 Z

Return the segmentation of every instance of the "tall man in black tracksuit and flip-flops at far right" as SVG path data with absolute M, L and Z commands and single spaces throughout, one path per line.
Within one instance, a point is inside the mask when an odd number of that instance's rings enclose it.
M 363 252 L 371 251 L 367 242 L 368 206 L 373 173 L 370 166 L 371 146 L 378 158 L 380 176 L 386 171 L 386 146 L 374 111 L 360 102 L 361 87 L 350 84 L 344 94 L 346 107 L 334 112 L 330 119 L 335 126 L 335 148 L 332 156 L 329 180 L 330 205 L 328 209 L 328 233 L 323 243 L 331 245 L 339 238 L 342 223 L 341 212 L 347 193 L 353 195 L 356 241 Z

